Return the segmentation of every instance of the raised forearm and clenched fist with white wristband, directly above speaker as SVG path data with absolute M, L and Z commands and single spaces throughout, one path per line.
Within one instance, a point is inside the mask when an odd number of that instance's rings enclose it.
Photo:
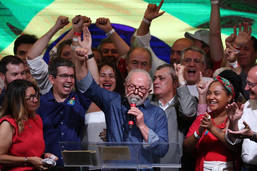
M 98 29 L 101 29 L 106 34 L 113 29 L 111 22 L 108 18 L 99 18 L 96 20 L 95 24 Z M 120 56 L 126 55 L 127 52 L 130 50 L 130 47 L 127 45 L 127 43 L 115 31 L 111 33 L 109 37 L 119 51 Z

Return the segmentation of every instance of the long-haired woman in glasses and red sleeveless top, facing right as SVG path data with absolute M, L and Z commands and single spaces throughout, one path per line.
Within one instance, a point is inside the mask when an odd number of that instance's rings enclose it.
M 0 112 L 1 171 L 42 171 L 50 167 L 42 162 L 42 158 L 50 158 L 52 154 L 44 153 L 43 124 L 35 114 L 38 94 L 34 84 L 25 80 L 14 80 L 6 89 Z

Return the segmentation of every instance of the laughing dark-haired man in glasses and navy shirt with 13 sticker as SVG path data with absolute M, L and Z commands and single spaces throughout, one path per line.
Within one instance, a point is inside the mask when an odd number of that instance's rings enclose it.
M 62 159 L 61 150 L 65 149 L 60 150 L 59 142 L 82 141 L 85 113 L 91 100 L 85 94 L 72 91 L 74 64 L 68 59 L 55 58 L 48 66 L 48 73 L 53 87 L 40 97 L 36 112 L 43 121 L 45 151 Z M 57 165 L 63 166 L 63 161 L 58 160 Z

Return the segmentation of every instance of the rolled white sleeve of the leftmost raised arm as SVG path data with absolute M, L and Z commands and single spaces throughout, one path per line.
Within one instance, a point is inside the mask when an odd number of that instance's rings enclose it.
M 40 93 L 45 94 L 51 89 L 52 83 L 48 78 L 48 65 L 41 56 L 33 60 L 28 60 L 27 58 L 27 62 L 31 76 L 35 78 Z

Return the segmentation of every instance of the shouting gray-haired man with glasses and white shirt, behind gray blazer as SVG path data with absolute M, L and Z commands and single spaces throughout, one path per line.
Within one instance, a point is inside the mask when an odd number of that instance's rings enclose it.
M 191 95 L 197 98 L 199 94 L 196 85 L 200 82 L 200 71 L 203 73 L 206 67 L 205 58 L 205 52 L 197 46 L 190 46 L 181 51 L 180 63 L 186 67 L 185 81 L 181 83 L 188 85 Z M 212 80 L 212 78 L 203 77 L 203 80 L 207 82 Z

